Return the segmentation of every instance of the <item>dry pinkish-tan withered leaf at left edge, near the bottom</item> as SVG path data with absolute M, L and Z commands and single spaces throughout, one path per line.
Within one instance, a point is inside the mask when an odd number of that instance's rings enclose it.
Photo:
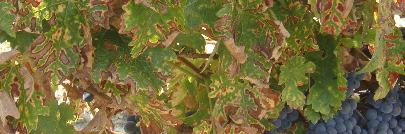
M 12 116 L 15 119 L 20 118 L 20 112 L 15 106 L 15 102 L 10 98 L 6 91 L 0 91 L 0 126 L 6 125 L 6 117 Z

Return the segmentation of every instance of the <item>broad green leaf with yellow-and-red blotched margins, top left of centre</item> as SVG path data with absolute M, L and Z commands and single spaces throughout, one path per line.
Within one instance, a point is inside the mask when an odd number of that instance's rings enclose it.
M 167 13 L 158 13 L 142 3 L 135 4 L 129 1 L 122 6 L 122 34 L 133 33 L 134 40 L 129 44 L 132 47 L 131 57 L 138 57 L 147 45 L 154 46 L 162 43 L 165 46 L 184 29 L 183 9 L 180 7 L 167 7 Z M 159 9 L 156 9 L 159 10 Z M 145 19 L 139 19 L 142 16 Z

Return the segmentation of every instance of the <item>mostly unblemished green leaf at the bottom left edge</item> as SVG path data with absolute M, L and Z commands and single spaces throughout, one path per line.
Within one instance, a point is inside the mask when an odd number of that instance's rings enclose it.
M 30 134 L 55 134 L 63 132 L 64 134 L 76 134 L 75 128 L 68 124 L 68 121 L 73 118 L 73 108 L 72 105 L 68 105 L 62 102 L 58 105 L 58 101 L 51 100 L 47 102 L 49 106 L 48 116 L 38 117 L 38 128 L 32 130 Z

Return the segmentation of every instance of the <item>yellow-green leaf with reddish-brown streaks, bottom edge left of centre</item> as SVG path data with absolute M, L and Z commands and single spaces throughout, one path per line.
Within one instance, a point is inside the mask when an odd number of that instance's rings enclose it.
M 143 133 L 159 134 L 163 132 L 163 125 L 175 126 L 183 123 L 173 115 L 170 109 L 163 107 L 163 101 L 148 98 L 144 91 L 132 97 L 132 101 L 134 101 L 142 117 L 141 128 Z

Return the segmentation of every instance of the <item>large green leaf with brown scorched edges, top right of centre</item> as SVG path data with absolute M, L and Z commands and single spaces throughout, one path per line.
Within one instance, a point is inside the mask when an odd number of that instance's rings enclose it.
M 230 72 L 238 72 L 235 69 L 240 68 L 243 77 L 259 80 L 266 85 L 271 68 L 271 62 L 266 61 L 280 57 L 278 51 L 284 38 L 290 34 L 280 21 L 273 21 L 261 12 L 263 9 L 257 9 L 264 2 L 251 5 L 241 3 L 243 6 L 236 6 L 233 2 L 223 4 L 224 8 L 217 13 L 221 19 L 215 24 L 215 29 L 224 32 L 224 45 L 237 60 L 233 61 L 234 66 L 240 66 L 233 67 L 234 70 Z

